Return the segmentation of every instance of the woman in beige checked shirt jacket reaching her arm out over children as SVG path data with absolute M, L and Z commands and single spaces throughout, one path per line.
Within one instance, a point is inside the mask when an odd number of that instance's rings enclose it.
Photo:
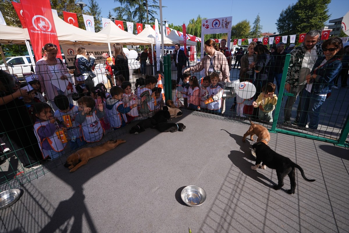
M 218 82 L 230 82 L 227 58 L 222 52 L 215 49 L 216 43 L 212 39 L 205 41 L 204 46 L 206 56 L 198 64 L 185 71 L 200 72 L 205 69 L 205 75 L 210 75 L 213 72 L 219 73 L 220 80 Z

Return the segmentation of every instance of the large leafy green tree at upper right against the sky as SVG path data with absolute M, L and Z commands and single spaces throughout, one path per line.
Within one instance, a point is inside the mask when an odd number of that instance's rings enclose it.
M 330 2 L 331 0 L 298 0 L 282 10 L 276 22 L 277 30 L 281 35 L 320 30 L 331 16 L 328 14 Z

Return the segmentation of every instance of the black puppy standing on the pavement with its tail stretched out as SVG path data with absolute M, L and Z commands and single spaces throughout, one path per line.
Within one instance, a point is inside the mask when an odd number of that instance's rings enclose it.
M 279 190 L 283 185 L 283 179 L 286 175 L 290 177 L 291 189 L 287 191 L 288 194 L 294 194 L 296 189 L 296 169 L 298 168 L 300 174 L 306 181 L 313 182 L 315 180 L 307 179 L 304 175 L 303 169 L 292 162 L 289 158 L 276 153 L 269 146 L 267 146 L 262 141 L 252 145 L 256 149 L 256 164 L 251 166 L 252 170 L 257 170 L 259 165 L 263 162 L 263 165 L 266 165 L 269 168 L 276 170 L 278 184 L 274 185 L 275 190 Z

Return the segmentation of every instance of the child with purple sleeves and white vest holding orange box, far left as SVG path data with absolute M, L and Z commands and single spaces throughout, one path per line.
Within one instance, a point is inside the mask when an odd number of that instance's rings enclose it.
M 35 103 L 32 113 L 36 118 L 34 134 L 38 139 L 43 158 L 57 159 L 64 154 L 64 148 L 68 143 L 64 126 L 57 123 L 53 117 L 52 108 L 47 103 Z

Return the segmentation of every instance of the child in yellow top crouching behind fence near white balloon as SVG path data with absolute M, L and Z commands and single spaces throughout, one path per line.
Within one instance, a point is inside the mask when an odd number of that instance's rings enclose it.
M 274 94 L 275 87 L 274 83 L 268 82 L 262 87 L 262 93 L 257 100 L 252 103 L 254 108 L 259 107 L 258 117 L 261 121 L 273 121 L 272 113 L 277 103 L 277 96 Z

